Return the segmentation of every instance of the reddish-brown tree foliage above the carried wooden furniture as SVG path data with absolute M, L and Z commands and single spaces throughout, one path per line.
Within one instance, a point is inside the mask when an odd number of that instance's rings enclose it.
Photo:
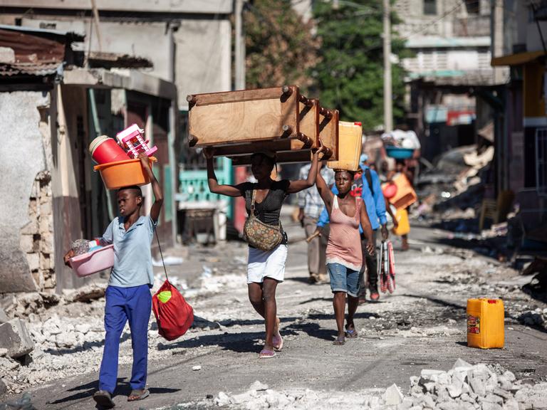
M 244 14 L 246 86 L 299 85 L 306 90 L 308 70 L 317 63 L 318 38 L 312 22 L 303 23 L 288 0 L 254 0 Z

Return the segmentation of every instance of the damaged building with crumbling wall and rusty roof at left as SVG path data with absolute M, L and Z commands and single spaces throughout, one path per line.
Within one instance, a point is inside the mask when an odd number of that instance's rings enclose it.
M 158 233 L 167 245 L 174 240 L 177 89 L 137 70 L 151 65 L 145 59 L 85 59 L 84 38 L 0 26 L 0 293 L 53 293 L 85 283 L 64 266 L 63 254 L 77 238 L 102 235 L 116 214 L 88 145 L 133 123 L 158 147 L 155 172 L 166 204 Z M 146 190 L 145 196 L 150 205 Z

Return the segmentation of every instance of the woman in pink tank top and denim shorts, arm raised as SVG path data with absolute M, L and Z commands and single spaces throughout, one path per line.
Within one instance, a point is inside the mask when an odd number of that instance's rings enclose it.
M 338 194 L 333 194 L 318 172 L 316 184 L 330 217 L 330 233 L 327 245 L 327 270 L 330 289 L 334 293 L 333 307 L 338 327 L 334 345 L 343 345 L 345 337 L 357 337 L 353 316 L 359 305 L 359 271 L 363 265 L 363 251 L 359 224 L 368 239 L 367 251 L 372 255 L 373 230 L 363 199 L 350 195 L 353 172 L 335 170 L 334 180 Z M 344 329 L 345 298 L 348 295 L 348 316 Z

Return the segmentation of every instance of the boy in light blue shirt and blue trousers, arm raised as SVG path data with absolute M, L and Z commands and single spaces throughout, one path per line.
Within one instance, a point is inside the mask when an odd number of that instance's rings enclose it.
M 118 352 L 120 336 L 125 323 L 129 321 L 133 365 L 131 369 L 131 393 L 127 401 L 145 399 L 150 395 L 146 389 L 148 357 L 148 320 L 152 310 L 150 288 L 154 285 L 152 252 L 150 243 L 157 226 L 157 219 L 163 204 L 160 183 L 157 182 L 146 154 L 139 155 L 154 192 L 154 204 L 150 216 L 141 215 L 144 198 L 140 186 L 118 189 L 120 216 L 110 222 L 100 244 L 114 244 L 114 266 L 110 272 L 105 292 L 105 347 L 99 371 L 99 389 L 93 394 L 98 406 L 104 409 L 114 407 L 112 395 L 118 382 Z M 69 265 L 73 251 L 64 257 Z

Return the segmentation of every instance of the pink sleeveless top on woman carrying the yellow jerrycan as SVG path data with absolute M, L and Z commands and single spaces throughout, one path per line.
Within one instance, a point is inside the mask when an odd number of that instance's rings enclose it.
M 327 263 L 340 263 L 353 270 L 361 270 L 363 251 L 359 233 L 360 209 L 363 199 L 355 198 L 355 216 L 344 214 L 334 196 L 333 211 L 330 213 L 330 233 L 327 245 Z

